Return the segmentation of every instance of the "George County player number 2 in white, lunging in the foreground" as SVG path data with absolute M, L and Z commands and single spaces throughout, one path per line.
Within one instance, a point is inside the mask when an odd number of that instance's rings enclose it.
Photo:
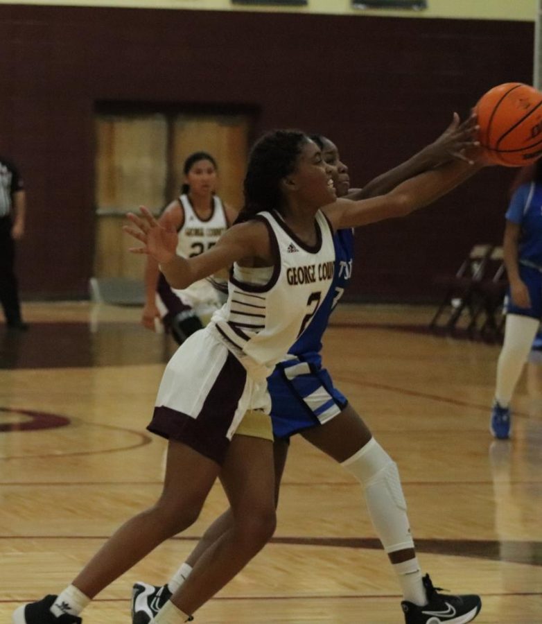
M 322 297 L 329 289 L 335 257 L 331 228 L 348 229 L 409 214 L 455 188 L 480 166 L 448 164 L 400 184 L 385 196 L 333 201 L 331 169 L 320 149 L 302 132 L 278 130 L 254 146 L 245 177 L 245 208 L 238 224 L 209 252 L 182 258 L 175 253 L 175 227 L 161 227 L 146 209 L 142 217 L 131 215 L 134 226 L 125 229 L 143 243 L 134 252 L 152 254 L 175 288 L 186 288 L 233 265 L 229 300 L 216 321 L 177 349 L 164 372 L 157 418 L 150 425 L 169 437 L 159 501 L 121 526 L 58 596 L 16 609 L 14 624 L 79 623 L 78 614 L 91 598 L 195 521 L 219 474 L 234 527 L 207 549 L 153 622 L 188 621 L 189 614 L 233 578 L 274 531 L 265 373 L 310 324 L 317 311 L 315 293 Z M 288 251 L 290 245 L 297 247 L 299 260 Z M 242 281 L 245 275 L 250 282 Z M 250 305 L 250 294 L 258 302 L 263 300 L 254 304 L 263 308 L 261 312 L 249 313 L 263 318 L 241 320 L 238 291 L 242 306 Z M 268 428 L 270 439 L 238 436 L 243 438 L 245 453 L 231 453 L 234 459 L 229 461 L 231 437 L 245 413 L 261 428 Z

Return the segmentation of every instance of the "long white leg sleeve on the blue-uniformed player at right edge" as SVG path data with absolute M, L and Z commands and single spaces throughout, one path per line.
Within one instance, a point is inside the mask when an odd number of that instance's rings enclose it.
M 495 398 L 502 407 L 508 407 L 512 400 L 539 325 L 539 319 L 530 316 L 518 314 L 506 316 L 505 340 L 497 363 L 495 388 Z

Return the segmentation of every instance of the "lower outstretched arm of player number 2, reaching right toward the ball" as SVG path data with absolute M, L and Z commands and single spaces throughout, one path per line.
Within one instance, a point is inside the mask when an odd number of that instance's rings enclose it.
M 482 166 L 482 163 L 451 162 L 402 182 L 386 195 L 357 202 L 338 200 L 324 207 L 323 211 L 335 229 L 406 216 L 446 195 L 480 171 Z

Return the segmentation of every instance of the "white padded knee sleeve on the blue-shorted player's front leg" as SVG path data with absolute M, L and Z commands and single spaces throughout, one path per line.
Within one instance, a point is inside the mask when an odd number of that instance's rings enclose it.
M 371 438 L 342 466 L 365 487 L 369 515 L 386 553 L 414 548 L 399 470 L 381 445 Z

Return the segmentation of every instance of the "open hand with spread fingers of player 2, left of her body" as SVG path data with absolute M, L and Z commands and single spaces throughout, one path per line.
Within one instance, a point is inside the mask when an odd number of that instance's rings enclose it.
M 123 225 L 124 232 L 143 243 L 143 247 L 131 247 L 130 252 L 148 254 L 160 264 L 175 258 L 179 237 L 167 215 L 160 224 L 146 207 L 140 206 L 139 215 L 129 212 L 126 216 L 133 225 Z

